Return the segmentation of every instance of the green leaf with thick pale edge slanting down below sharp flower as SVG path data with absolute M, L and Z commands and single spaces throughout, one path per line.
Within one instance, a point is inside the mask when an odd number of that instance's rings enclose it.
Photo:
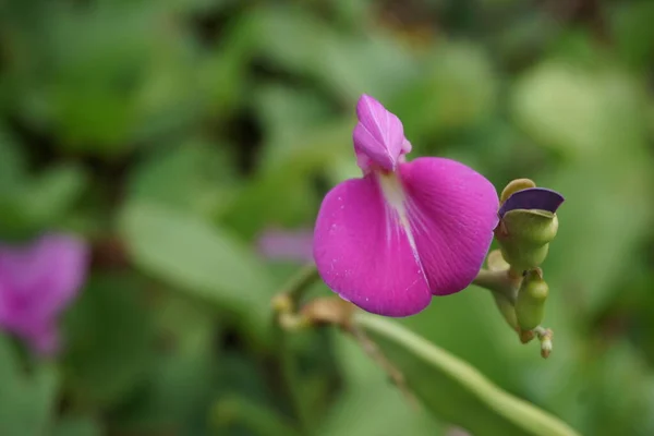
M 410 391 L 445 421 L 477 436 L 578 434 L 399 324 L 370 314 L 358 314 L 354 323 L 402 374 Z

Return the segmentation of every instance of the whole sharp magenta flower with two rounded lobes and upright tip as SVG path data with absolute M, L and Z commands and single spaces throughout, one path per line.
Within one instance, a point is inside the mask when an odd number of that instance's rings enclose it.
M 354 152 L 363 178 L 323 201 L 314 259 L 335 292 L 379 315 L 409 316 L 433 295 L 467 288 L 497 226 L 498 197 L 463 164 L 424 157 L 405 162 L 411 144 L 401 121 L 362 96 Z

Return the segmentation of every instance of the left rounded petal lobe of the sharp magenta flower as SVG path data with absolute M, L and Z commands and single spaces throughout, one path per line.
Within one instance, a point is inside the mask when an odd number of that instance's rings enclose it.
M 327 286 L 367 312 L 408 316 L 432 299 L 375 173 L 346 181 L 327 194 L 316 220 L 314 258 Z

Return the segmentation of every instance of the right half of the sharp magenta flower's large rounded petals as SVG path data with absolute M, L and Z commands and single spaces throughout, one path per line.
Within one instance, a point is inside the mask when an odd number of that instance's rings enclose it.
M 411 232 L 432 293 L 467 288 L 479 272 L 497 226 L 498 198 L 483 175 L 450 159 L 400 166 Z

